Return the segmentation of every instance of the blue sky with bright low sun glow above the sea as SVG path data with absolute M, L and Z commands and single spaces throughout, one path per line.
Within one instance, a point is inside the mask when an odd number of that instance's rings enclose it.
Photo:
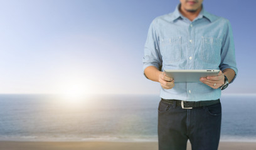
M 142 58 L 151 21 L 178 0 L 0 0 L 1 94 L 158 94 Z M 256 93 L 256 1 L 205 0 L 227 18 L 238 75 L 223 93 Z

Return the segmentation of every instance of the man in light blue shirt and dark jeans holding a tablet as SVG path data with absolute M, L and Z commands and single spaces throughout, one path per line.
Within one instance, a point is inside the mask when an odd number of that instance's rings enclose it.
M 218 149 L 221 89 L 237 74 L 230 22 L 203 9 L 203 0 L 180 0 L 173 13 L 149 27 L 144 74 L 161 84 L 158 108 L 159 150 Z M 198 83 L 174 83 L 165 69 L 220 69 Z M 188 109 L 192 108 L 192 109 Z

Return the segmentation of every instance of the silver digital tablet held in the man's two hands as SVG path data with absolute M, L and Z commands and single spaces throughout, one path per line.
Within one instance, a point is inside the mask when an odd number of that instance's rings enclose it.
M 175 83 L 188 82 L 198 83 L 200 78 L 207 76 L 217 76 L 220 70 L 165 70 L 166 76 L 174 79 Z

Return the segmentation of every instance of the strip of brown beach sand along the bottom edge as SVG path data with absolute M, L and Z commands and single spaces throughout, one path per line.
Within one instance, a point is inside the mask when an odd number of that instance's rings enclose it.
M 157 142 L 100 142 L 100 141 L 86 141 L 86 142 L 23 142 L 23 141 L 0 141 L 0 149 L 4 150 L 156 150 Z M 188 143 L 187 150 L 190 150 Z M 256 143 L 245 142 L 220 142 L 220 150 L 255 150 Z

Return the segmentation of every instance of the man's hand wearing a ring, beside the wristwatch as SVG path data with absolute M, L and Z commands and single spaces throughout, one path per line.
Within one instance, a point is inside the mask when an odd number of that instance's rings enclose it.
M 200 78 L 200 81 L 213 89 L 218 89 L 224 84 L 224 79 L 224 74 L 222 73 L 222 71 L 220 71 L 218 76 L 208 76 L 206 78 Z

